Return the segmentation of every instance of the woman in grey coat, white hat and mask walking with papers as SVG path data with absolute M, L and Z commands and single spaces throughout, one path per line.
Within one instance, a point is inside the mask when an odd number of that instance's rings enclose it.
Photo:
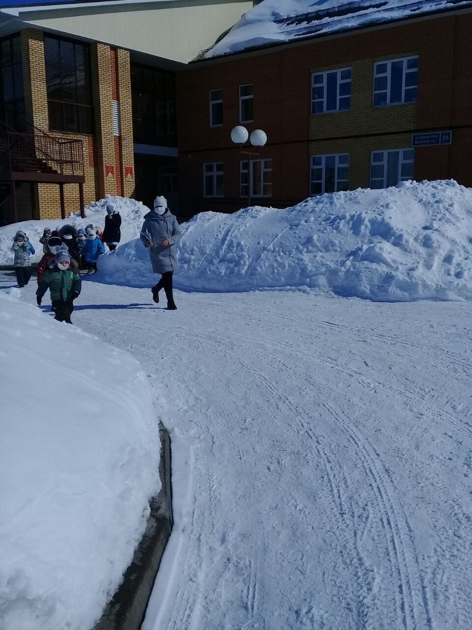
M 162 276 L 151 289 L 152 299 L 158 303 L 159 291 L 164 289 L 169 311 L 177 309 L 172 294 L 172 274 L 177 268 L 176 244 L 181 236 L 182 231 L 177 219 L 167 208 L 167 200 L 164 197 L 156 197 L 154 210 L 144 217 L 140 239 L 145 247 L 149 247 L 152 271 Z

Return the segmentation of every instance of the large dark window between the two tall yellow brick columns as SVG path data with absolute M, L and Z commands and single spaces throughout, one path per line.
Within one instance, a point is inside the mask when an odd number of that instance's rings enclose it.
M 89 46 L 44 38 L 49 129 L 92 133 Z

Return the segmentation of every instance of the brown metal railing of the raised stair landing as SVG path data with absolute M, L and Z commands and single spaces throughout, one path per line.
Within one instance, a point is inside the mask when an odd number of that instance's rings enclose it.
M 0 168 L 84 176 L 82 140 L 56 138 L 25 119 L 21 122 L 27 132 L 0 121 Z

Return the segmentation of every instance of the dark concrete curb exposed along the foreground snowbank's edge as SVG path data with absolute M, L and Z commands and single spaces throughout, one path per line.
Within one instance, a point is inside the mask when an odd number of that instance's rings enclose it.
M 143 622 L 160 559 L 174 524 L 171 440 L 162 423 L 159 423 L 159 437 L 161 445 L 159 476 L 162 488 L 159 495 L 149 501 L 151 513 L 133 561 L 94 630 L 139 630 Z

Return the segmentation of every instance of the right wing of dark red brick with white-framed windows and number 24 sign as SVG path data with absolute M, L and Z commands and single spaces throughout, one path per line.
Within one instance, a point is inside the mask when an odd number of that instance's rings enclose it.
M 190 64 L 177 76 L 181 202 L 244 205 L 248 156 L 230 140 L 239 124 L 267 134 L 250 156 L 261 205 L 412 178 L 472 186 L 471 34 L 472 13 L 436 13 Z

